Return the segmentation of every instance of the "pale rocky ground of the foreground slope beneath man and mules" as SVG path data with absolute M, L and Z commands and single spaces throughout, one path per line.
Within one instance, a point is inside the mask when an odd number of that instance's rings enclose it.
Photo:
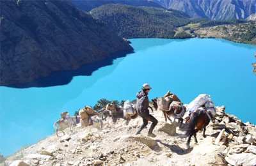
M 191 139 L 186 147 L 186 125 L 166 123 L 163 112 L 152 113 L 159 121 L 154 133 L 147 137 L 148 128 L 134 135 L 142 119 L 104 121 L 102 131 L 77 126 L 55 134 L 37 144 L 22 149 L 3 162 L 6 165 L 255 165 L 256 126 L 243 123 L 227 114 L 225 107 L 216 107 L 216 122 L 206 129 L 206 138 L 197 133 L 198 143 Z M 225 130 L 226 128 L 226 130 Z

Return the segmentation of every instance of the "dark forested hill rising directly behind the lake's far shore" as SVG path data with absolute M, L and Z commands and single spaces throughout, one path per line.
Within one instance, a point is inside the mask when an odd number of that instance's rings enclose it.
M 124 4 L 106 4 L 90 14 L 106 22 L 122 38 L 173 38 L 175 27 L 190 22 L 180 11 Z

